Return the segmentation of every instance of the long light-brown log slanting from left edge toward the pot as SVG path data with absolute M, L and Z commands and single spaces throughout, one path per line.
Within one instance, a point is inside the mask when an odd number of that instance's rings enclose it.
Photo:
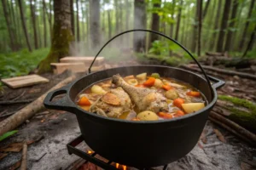
M 27 119 L 34 116 L 38 111 L 44 109 L 44 98 L 46 95 L 57 88 L 61 88 L 67 83 L 72 82 L 76 77 L 73 75 L 71 77 L 67 77 L 63 81 L 59 82 L 55 85 L 55 87 L 50 88 L 48 92 L 41 95 L 38 99 L 34 100 L 31 104 L 26 105 L 26 107 L 22 108 L 20 111 L 17 111 L 14 115 L 9 116 L 7 119 L 3 120 L 3 122 L 0 123 L 0 136 L 3 135 L 3 133 L 7 133 L 10 130 L 15 129 L 18 127 L 21 123 L 25 122 Z

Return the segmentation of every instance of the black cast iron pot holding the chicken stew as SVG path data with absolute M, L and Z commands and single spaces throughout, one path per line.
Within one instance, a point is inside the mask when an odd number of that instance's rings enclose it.
M 191 57 L 193 58 L 192 55 Z M 195 62 L 198 64 L 197 61 Z M 206 107 L 201 111 L 170 120 L 133 122 L 98 116 L 95 113 L 84 111 L 74 103 L 74 99 L 84 88 L 98 81 L 118 73 L 125 77 L 142 72 L 148 74 L 158 72 L 161 77 L 171 77 L 189 83 L 205 95 Z M 205 71 L 202 70 L 202 72 L 206 76 Z M 207 122 L 209 112 L 217 101 L 216 88 L 223 85 L 224 82 L 217 78 L 207 76 L 203 78 L 193 72 L 169 66 L 126 66 L 90 73 L 66 87 L 52 91 L 44 99 L 44 105 L 49 109 L 74 113 L 86 144 L 108 160 L 131 167 L 156 167 L 177 161 L 195 147 Z M 57 101 L 52 101 L 59 94 L 66 95 Z

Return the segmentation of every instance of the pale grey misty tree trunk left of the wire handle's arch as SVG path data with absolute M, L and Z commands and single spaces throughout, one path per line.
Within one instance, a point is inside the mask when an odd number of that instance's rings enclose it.
M 90 42 L 96 48 L 101 43 L 100 35 L 100 0 L 90 0 Z

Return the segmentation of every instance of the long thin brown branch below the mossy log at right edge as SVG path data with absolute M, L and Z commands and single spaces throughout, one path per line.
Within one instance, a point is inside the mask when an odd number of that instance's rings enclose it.
M 219 122 L 223 122 L 225 125 L 231 127 L 233 130 L 235 130 L 237 133 L 241 133 L 241 135 L 246 136 L 248 139 L 252 139 L 256 143 L 256 135 L 249 132 L 244 127 L 241 127 L 236 122 L 230 121 L 228 118 L 225 118 L 224 116 L 219 115 L 218 113 L 211 111 L 210 116 L 212 118 L 217 119 Z

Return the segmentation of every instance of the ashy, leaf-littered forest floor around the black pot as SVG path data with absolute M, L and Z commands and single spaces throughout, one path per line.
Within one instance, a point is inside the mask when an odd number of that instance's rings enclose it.
M 122 64 L 127 65 L 127 62 L 108 66 L 116 67 Z M 130 64 L 138 63 L 131 62 Z M 152 62 L 144 64 L 152 64 Z M 153 64 L 159 63 L 154 61 Z M 247 94 L 247 92 L 255 90 L 255 80 L 225 76 L 216 72 L 212 72 L 212 75 L 226 82 L 225 86 L 218 90 L 218 94 L 229 94 L 252 102 L 256 101 L 255 93 Z M 42 76 L 49 78 L 49 83 L 19 89 L 4 87 L 3 94 L 0 95 L 0 101 L 37 99 L 70 74 L 65 72 L 61 75 L 44 74 Z M 26 104 L 0 105 L 0 121 L 24 106 Z M 68 155 L 66 144 L 78 137 L 79 134 L 78 122 L 76 116 L 72 113 L 46 109 L 40 111 L 32 119 L 18 127 L 18 133 L 0 142 L 0 169 L 19 167 L 20 150 L 22 149 L 20 144 L 24 139 L 32 143 L 28 145 L 27 152 L 29 169 L 76 169 L 73 162 L 78 160 L 79 157 Z M 6 148 L 13 151 L 4 151 Z M 172 162 L 168 167 L 170 169 L 172 167 L 172 170 L 253 169 L 256 168 L 255 155 L 255 147 L 226 131 L 223 127 L 208 121 L 201 135 L 201 140 L 194 150 L 182 159 Z M 87 163 L 80 169 L 88 169 L 89 166 L 92 165 Z

